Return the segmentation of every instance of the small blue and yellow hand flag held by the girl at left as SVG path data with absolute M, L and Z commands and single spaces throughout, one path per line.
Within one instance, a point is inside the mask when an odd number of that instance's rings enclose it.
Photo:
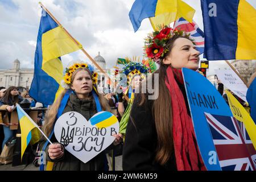
M 21 133 L 21 159 L 26 150 L 28 143 L 36 143 L 40 139 L 40 135 L 36 130 L 38 125 L 27 115 L 27 113 L 19 106 L 16 106 L 18 117 L 19 117 L 19 126 Z

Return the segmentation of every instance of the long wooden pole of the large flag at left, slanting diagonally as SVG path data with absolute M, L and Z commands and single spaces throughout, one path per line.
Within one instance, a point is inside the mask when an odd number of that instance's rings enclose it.
M 53 15 L 51 14 L 51 12 L 42 4 L 42 2 L 39 2 L 39 5 L 51 16 L 51 18 L 52 18 L 53 20 L 55 20 L 55 22 L 56 22 L 59 26 L 61 26 L 61 27 L 63 28 L 63 30 L 68 34 L 69 38 L 71 38 L 71 39 L 73 40 L 73 42 L 75 42 L 75 43 L 77 44 L 77 46 L 80 46 L 80 44 L 76 41 L 76 39 L 74 39 L 73 36 L 72 36 L 71 34 L 69 34 L 69 32 L 60 24 L 60 22 L 55 18 L 55 16 L 53 16 Z M 98 69 L 100 69 L 100 71 L 101 71 L 102 73 L 104 73 L 105 77 L 110 80 L 110 85 L 114 85 L 114 88 L 115 88 L 115 83 L 113 83 L 113 81 L 110 79 L 110 77 L 108 76 L 108 74 L 100 67 L 100 65 L 98 65 L 98 64 L 96 63 L 96 61 L 85 51 L 85 49 L 84 49 L 83 47 L 81 48 L 81 51 L 84 52 L 84 54 L 90 59 L 90 61 L 92 61 L 92 63 L 93 63 L 94 65 L 96 65 L 96 67 L 97 67 Z M 128 98 L 127 96 L 124 95 L 123 97 L 125 97 L 125 100 L 129 101 L 129 98 Z

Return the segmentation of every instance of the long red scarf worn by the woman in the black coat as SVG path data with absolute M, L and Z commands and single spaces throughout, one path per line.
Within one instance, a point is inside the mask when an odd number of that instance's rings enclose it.
M 184 84 L 181 70 L 167 68 L 166 86 L 170 92 L 172 101 L 172 134 L 177 170 L 199 171 L 205 170 L 197 143 L 194 140 L 195 132 L 192 119 L 187 113 L 187 107 L 183 94 L 177 85 L 177 81 Z

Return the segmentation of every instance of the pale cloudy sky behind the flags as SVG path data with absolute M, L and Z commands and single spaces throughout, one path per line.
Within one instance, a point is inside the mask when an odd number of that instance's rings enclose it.
M 183 0 L 196 13 L 195 22 L 203 30 L 200 0 Z M 256 9 L 255 0 L 246 0 Z M 36 0 L 0 0 L 0 69 L 13 67 L 15 59 L 21 68 L 34 68 L 36 39 L 42 9 Z M 106 67 L 112 68 L 118 57 L 143 58 L 143 43 L 152 31 L 148 19 L 134 33 L 129 11 L 134 0 L 42 0 L 69 33 L 90 56 L 100 54 Z M 61 57 L 64 67 L 72 60 L 89 61 L 82 51 Z M 201 60 L 203 55 L 200 56 Z M 210 61 L 209 75 L 214 69 L 225 68 L 224 61 Z

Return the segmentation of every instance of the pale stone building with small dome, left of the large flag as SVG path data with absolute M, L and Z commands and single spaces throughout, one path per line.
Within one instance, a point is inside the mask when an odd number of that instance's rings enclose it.
M 33 76 L 34 69 L 20 69 L 20 61 L 15 59 L 13 69 L 0 70 L 0 86 L 30 88 Z

